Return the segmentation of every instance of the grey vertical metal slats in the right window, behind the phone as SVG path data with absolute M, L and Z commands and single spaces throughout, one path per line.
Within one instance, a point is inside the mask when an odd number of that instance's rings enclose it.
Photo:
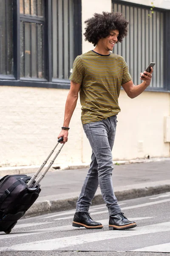
M 113 11 L 123 13 L 130 22 L 127 37 L 113 51 L 125 58 L 134 84 L 141 83 L 140 73 L 150 62 L 155 62 L 150 87 L 163 88 L 164 13 L 154 10 L 152 14 L 150 9 L 114 1 Z

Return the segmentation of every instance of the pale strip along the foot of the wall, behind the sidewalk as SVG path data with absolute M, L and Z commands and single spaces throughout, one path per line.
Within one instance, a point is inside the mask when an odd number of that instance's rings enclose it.
M 130 163 L 150 163 L 150 162 L 160 162 L 160 161 L 170 161 L 170 157 L 153 157 L 153 158 L 137 158 L 132 160 L 117 160 L 113 161 L 113 165 L 122 165 Z M 55 172 L 56 170 L 71 170 L 71 169 L 82 169 L 89 168 L 90 163 L 77 163 L 72 165 L 54 164 L 48 170 L 48 172 Z M 14 167 L 0 167 L 0 176 L 5 175 L 17 175 L 17 174 L 28 174 L 35 173 L 40 166 L 14 166 Z

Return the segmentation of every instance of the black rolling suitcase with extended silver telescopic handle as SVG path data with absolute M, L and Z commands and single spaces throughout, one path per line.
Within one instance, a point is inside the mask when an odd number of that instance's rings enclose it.
M 63 137 L 59 138 L 54 149 L 32 177 L 27 175 L 6 175 L 0 180 L 0 231 L 9 234 L 17 221 L 34 204 L 41 191 L 40 181 L 54 163 L 64 144 L 59 148 L 57 154 L 37 181 L 35 179 L 62 140 Z

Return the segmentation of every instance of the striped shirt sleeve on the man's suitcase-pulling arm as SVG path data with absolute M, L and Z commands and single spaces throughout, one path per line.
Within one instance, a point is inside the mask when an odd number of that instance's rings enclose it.
M 82 60 L 81 58 L 79 58 L 79 56 L 77 56 L 74 60 L 73 72 L 71 73 L 71 76 L 69 77 L 69 79 L 71 81 L 76 82 L 77 84 L 82 84 L 83 76 L 84 76 L 84 68 L 83 68 Z

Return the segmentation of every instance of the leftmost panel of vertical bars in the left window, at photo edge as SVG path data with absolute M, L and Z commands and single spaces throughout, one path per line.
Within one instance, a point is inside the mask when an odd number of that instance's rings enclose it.
M 0 75 L 13 73 L 12 1 L 0 0 Z

